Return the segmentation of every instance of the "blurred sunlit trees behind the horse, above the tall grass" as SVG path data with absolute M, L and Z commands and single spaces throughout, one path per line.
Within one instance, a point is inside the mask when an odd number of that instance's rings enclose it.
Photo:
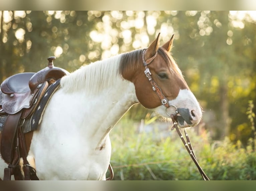
M 174 34 L 173 57 L 204 110 L 195 134 L 211 148 L 224 140 L 246 148 L 255 140 L 256 11 L 0 11 L 0 18 L 1 81 L 46 67 L 49 56 L 72 72 L 146 48 L 159 32 L 161 44 Z M 137 132 L 142 122 L 144 131 L 157 124 L 169 135 L 139 104 L 118 125 L 131 123 Z

